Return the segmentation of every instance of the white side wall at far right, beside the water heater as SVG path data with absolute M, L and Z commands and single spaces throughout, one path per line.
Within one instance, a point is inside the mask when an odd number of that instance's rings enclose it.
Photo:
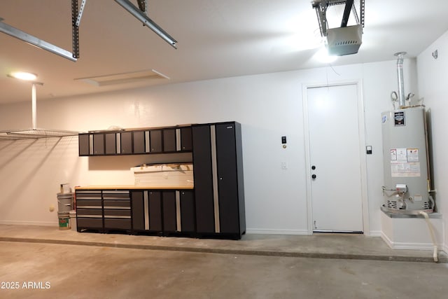
M 435 60 L 432 53 L 437 50 Z M 430 109 L 432 144 L 433 144 L 433 183 L 437 193 L 435 200 L 438 211 L 444 215 L 442 219 L 446 228 L 448 214 L 448 155 L 447 127 L 448 111 L 447 69 L 448 69 L 448 32 L 430 45 L 417 57 L 419 90 L 424 97 L 424 104 Z M 448 252 L 448 231 L 444 230 L 444 251 Z

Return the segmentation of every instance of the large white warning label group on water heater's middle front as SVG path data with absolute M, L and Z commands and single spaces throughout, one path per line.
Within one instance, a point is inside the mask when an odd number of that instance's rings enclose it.
M 419 148 L 391 148 L 391 176 L 420 176 Z

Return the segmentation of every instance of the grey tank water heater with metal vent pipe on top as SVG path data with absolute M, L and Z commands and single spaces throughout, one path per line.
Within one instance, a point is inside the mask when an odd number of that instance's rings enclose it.
M 384 159 L 384 205 L 392 213 L 432 213 L 434 200 L 430 195 L 428 134 L 426 109 L 423 105 L 407 106 L 412 94 L 404 97 L 402 60 L 398 56 L 399 108 L 381 113 Z M 409 101 L 410 102 L 410 101 Z

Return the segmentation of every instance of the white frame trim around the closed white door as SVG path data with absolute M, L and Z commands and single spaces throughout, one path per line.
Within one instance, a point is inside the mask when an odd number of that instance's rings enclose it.
M 307 228 L 308 234 L 313 234 L 313 209 L 311 197 L 311 158 L 309 144 L 309 118 L 308 118 L 308 89 L 325 88 L 341 85 L 356 85 L 358 100 L 358 132 L 359 132 L 359 152 L 360 152 L 360 182 L 361 182 L 361 204 L 363 213 L 363 232 L 364 235 L 370 235 L 369 223 L 369 202 L 367 194 L 367 155 L 365 153 L 365 116 L 362 80 L 357 81 L 337 81 L 325 83 L 305 83 L 302 84 L 302 105 L 303 105 L 303 125 L 304 125 L 304 147 L 305 147 L 305 177 L 307 186 Z

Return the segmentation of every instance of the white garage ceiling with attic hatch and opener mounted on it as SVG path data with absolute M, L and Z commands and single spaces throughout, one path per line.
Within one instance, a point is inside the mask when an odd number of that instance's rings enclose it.
M 132 3 L 137 6 L 137 0 Z M 6 76 L 16 70 L 38 74 L 43 85 L 37 88 L 37 98 L 50 99 L 325 66 L 314 59 L 315 48 L 306 49 L 307 38 L 318 33 L 311 1 L 148 0 L 148 4 L 149 17 L 179 42 L 177 50 L 113 0 L 87 0 L 77 62 L 0 33 L 0 104 L 31 98 L 29 83 Z M 393 53 L 399 51 L 415 57 L 448 30 L 447 12 L 448 1 L 442 0 L 365 0 L 363 45 L 358 54 L 339 57 L 333 65 L 394 60 Z M 1 0 L 0 18 L 72 51 L 71 0 Z M 330 22 L 330 27 L 339 24 Z M 74 80 L 151 69 L 169 79 L 100 87 Z

